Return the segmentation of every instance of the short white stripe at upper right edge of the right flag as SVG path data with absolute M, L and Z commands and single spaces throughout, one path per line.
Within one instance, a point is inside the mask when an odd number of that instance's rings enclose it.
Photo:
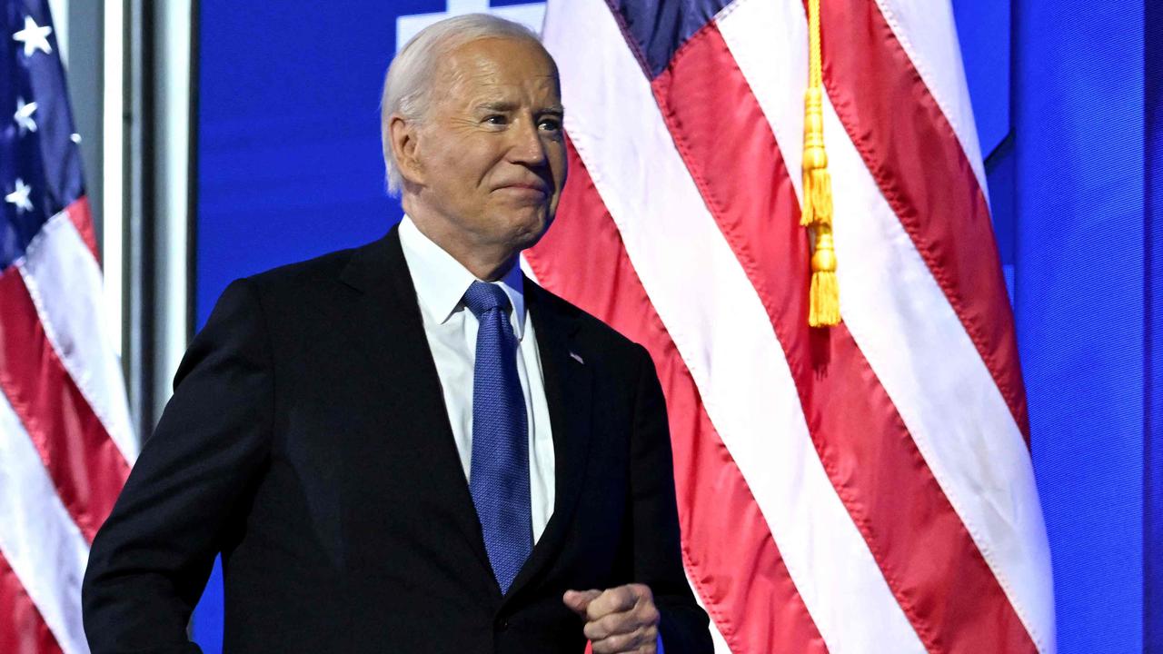
M 941 107 L 941 113 L 952 126 L 961 149 L 969 156 L 977 183 L 989 200 L 985 165 L 977 140 L 977 123 L 973 122 L 973 106 L 969 101 L 965 69 L 961 62 L 952 6 L 948 0 L 876 0 L 876 3 Z

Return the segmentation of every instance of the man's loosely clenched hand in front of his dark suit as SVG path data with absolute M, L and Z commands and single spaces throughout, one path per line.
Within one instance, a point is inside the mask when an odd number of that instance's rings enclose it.
M 658 609 L 649 587 L 568 590 L 562 600 L 586 621 L 593 654 L 657 654 Z

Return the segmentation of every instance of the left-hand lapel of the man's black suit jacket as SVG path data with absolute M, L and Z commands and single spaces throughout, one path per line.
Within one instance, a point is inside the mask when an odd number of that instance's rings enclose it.
M 392 426 L 392 438 L 401 441 L 397 448 L 421 457 L 416 461 L 416 474 L 430 477 L 428 485 L 441 489 L 441 502 L 454 514 L 469 547 L 492 575 L 480 523 L 449 425 L 436 363 L 424 335 L 416 291 L 400 248 L 399 226 L 357 250 L 342 280 L 363 293 L 347 328 L 358 333 L 356 342 L 366 343 L 363 354 L 371 357 L 372 369 L 383 371 L 390 379 L 391 386 L 385 392 L 398 396 L 393 405 L 407 407 L 407 411 L 383 415 L 383 405 L 376 404 L 366 407 L 368 415 L 374 417 L 373 424 Z M 374 478 L 359 479 L 359 483 L 377 485 Z

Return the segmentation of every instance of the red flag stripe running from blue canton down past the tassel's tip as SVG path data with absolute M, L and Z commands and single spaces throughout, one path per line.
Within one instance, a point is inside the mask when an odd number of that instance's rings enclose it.
M 932 652 L 1034 644 L 841 324 L 807 327 L 807 236 L 775 136 L 718 27 L 652 83 L 707 207 L 771 318 L 825 470 Z

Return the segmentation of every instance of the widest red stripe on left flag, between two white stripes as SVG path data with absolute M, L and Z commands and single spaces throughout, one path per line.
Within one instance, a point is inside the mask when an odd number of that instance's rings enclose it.
M 86 540 L 129 467 L 49 342 L 15 266 L 0 273 L 0 390 L 8 397 Z

